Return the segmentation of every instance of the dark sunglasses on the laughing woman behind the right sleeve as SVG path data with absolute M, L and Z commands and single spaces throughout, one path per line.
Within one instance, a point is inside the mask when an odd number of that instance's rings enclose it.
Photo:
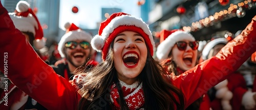
M 176 45 L 179 50 L 184 51 L 187 48 L 187 42 L 185 41 L 178 41 L 176 42 Z M 198 41 L 189 41 L 188 45 L 191 47 L 192 50 L 198 49 Z

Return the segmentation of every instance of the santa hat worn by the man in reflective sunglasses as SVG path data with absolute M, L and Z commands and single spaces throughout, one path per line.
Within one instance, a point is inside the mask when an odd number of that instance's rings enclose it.
M 65 57 L 64 48 L 65 48 L 66 42 L 75 41 L 75 40 L 83 40 L 83 41 L 91 42 L 91 40 L 92 40 L 91 34 L 81 30 L 73 23 L 72 24 L 66 23 L 64 27 L 67 29 L 66 34 L 64 34 L 61 37 L 61 39 L 58 43 L 58 51 L 62 58 Z M 90 54 L 92 54 L 93 52 L 94 51 L 92 50 Z

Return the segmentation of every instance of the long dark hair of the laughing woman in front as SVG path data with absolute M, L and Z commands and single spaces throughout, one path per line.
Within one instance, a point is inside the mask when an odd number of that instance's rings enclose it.
M 116 83 L 118 87 L 120 109 L 129 109 L 122 95 L 121 85 L 114 67 L 113 41 L 105 61 L 100 62 L 82 80 L 84 84 L 79 90 L 82 98 L 78 109 L 110 109 L 110 105 L 112 105 L 110 86 L 113 83 Z M 145 98 L 143 107 L 145 109 L 184 109 L 183 93 L 167 77 L 168 75 L 161 65 L 147 51 L 145 67 L 138 76 L 138 81 L 143 82 L 142 89 Z

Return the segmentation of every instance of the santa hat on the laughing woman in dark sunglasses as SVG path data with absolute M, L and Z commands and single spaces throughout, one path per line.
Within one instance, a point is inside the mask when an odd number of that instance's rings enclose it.
M 160 32 L 160 44 L 157 47 L 157 58 L 159 60 L 168 58 L 175 43 L 182 40 L 195 41 L 195 38 L 183 30 L 162 30 Z

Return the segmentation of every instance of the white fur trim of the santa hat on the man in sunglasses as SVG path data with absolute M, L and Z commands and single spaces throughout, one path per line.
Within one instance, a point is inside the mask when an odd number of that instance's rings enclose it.
M 90 43 L 92 40 L 92 35 L 81 29 L 69 31 L 68 33 L 64 34 L 58 43 L 58 51 L 62 58 L 65 58 L 65 54 L 64 54 L 65 43 L 68 41 L 75 41 L 75 40 L 83 40 L 83 41 L 88 41 Z

